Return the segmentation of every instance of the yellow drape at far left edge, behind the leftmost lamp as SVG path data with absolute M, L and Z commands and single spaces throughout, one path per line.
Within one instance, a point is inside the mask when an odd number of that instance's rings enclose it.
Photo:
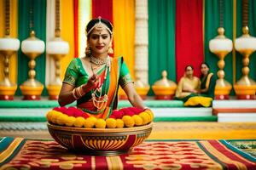
M 5 35 L 4 26 L 4 0 L 0 0 L 0 37 Z M 17 37 L 17 0 L 10 0 L 10 37 Z M 0 56 L 0 81 L 3 80 L 3 56 Z M 9 79 L 11 82 L 17 83 L 17 54 L 13 54 L 9 61 Z

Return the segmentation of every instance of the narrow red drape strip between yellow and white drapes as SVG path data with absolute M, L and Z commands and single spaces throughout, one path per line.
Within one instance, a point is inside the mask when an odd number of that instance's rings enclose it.
M 73 0 L 74 57 L 79 57 L 79 0 Z

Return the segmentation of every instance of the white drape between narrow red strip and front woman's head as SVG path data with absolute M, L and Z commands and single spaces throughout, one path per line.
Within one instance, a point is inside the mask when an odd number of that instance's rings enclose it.
M 84 57 L 87 41 L 85 27 L 90 20 L 91 0 L 79 0 L 79 57 Z

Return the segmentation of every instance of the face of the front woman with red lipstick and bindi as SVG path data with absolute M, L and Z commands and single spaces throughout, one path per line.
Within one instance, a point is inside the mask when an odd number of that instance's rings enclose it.
M 101 30 L 93 29 L 90 33 L 90 37 L 87 40 L 90 46 L 91 53 L 94 57 L 107 56 L 108 47 L 111 43 L 112 37 L 110 36 L 106 28 Z

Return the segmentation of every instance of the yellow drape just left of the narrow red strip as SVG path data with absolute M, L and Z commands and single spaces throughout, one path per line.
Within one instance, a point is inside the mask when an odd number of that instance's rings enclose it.
M 61 0 L 61 38 L 69 43 L 69 53 L 61 59 L 61 80 L 63 80 L 67 65 L 74 55 L 73 31 L 73 1 Z

